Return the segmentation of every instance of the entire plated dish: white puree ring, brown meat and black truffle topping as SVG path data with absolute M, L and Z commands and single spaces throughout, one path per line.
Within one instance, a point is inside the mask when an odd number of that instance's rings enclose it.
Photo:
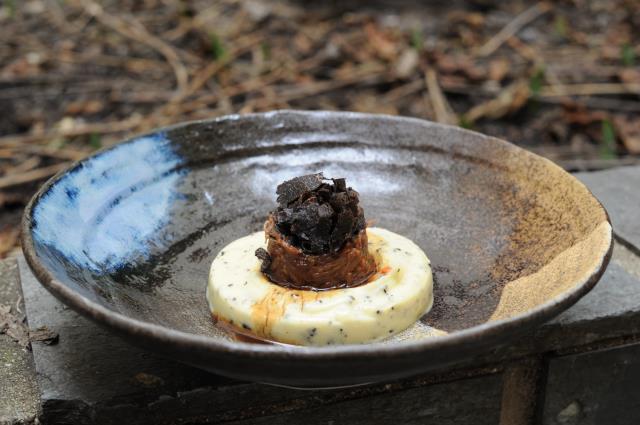
M 367 227 L 358 193 L 322 174 L 280 184 L 264 232 L 213 260 L 214 318 L 245 336 L 296 345 L 388 338 L 433 304 L 429 259 L 411 240 Z

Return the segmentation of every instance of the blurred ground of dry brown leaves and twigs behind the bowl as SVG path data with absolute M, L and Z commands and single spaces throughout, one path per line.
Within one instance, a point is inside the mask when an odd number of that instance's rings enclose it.
M 44 179 L 185 120 L 352 110 L 481 131 L 568 170 L 640 158 L 638 0 L 0 5 L 0 257 Z

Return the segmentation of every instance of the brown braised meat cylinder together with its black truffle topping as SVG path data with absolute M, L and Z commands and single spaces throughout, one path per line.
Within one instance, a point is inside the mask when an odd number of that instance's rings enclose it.
M 276 193 L 278 207 L 264 226 L 267 249 L 255 253 L 269 280 L 323 290 L 361 285 L 376 272 L 358 192 L 344 179 L 300 176 Z

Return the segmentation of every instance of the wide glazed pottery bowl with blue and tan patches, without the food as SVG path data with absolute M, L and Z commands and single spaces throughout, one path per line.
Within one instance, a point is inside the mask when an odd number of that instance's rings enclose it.
M 434 308 L 374 344 L 236 341 L 210 318 L 209 265 L 262 227 L 279 182 L 318 171 L 346 177 L 367 219 L 427 253 Z M 51 179 L 22 230 L 40 282 L 132 343 L 240 379 L 316 387 L 398 378 L 508 342 L 587 293 L 612 243 L 602 205 L 546 159 L 456 127 L 342 112 L 135 137 Z

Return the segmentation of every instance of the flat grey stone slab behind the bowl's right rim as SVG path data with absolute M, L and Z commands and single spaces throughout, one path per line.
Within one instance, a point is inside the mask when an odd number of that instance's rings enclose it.
M 640 166 L 577 173 L 605 206 L 616 234 L 640 252 Z

